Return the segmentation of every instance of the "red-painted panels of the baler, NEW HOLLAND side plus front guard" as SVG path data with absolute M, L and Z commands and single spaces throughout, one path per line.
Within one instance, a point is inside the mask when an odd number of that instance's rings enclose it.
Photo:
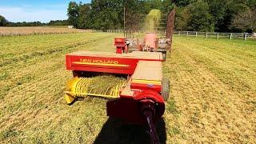
M 111 74 L 134 74 L 138 61 L 162 61 L 159 58 L 142 59 L 128 55 L 105 56 L 93 54 L 66 54 L 66 69 L 73 71 L 103 72 Z M 120 94 L 120 98 L 107 102 L 107 114 L 115 118 L 123 118 L 127 122 L 145 124 L 142 115 L 142 107 L 147 106 L 145 99 L 155 103 L 156 114 L 153 119 L 160 118 L 164 112 L 165 105 L 160 95 L 161 86 L 130 83 L 133 95 Z M 150 104 L 151 105 L 151 104 Z

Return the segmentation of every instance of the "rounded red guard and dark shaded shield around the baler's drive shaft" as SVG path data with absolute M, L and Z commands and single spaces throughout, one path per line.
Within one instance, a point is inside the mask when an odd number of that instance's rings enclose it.
M 148 101 L 154 102 L 155 114 L 153 121 L 161 118 L 165 111 L 164 100 L 160 94 L 153 90 L 143 90 L 131 98 L 117 98 L 106 103 L 107 115 L 135 124 L 146 124 L 142 112 Z

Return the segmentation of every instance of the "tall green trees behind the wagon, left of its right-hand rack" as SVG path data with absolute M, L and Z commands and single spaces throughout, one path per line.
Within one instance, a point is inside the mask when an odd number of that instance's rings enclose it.
M 126 10 L 123 8 L 126 7 Z M 170 0 L 92 0 L 91 3 L 70 2 L 68 22 L 82 29 L 122 29 L 126 14 L 126 26 L 140 22 L 152 9 L 168 14 L 174 7 Z

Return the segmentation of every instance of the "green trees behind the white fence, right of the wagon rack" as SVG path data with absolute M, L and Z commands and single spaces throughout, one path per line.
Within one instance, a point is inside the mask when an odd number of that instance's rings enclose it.
M 256 0 L 180 0 L 176 30 L 255 32 Z

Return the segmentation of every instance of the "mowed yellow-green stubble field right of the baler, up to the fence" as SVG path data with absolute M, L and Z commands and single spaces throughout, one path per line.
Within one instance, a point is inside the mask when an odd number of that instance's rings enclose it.
M 256 45 L 174 38 L 165 63 L 180 114 L 174 141 L 256 141 Z M 167 113 L 167 115 L 169 115 Z M 170 118 L 171 120 L 171 118 Z

